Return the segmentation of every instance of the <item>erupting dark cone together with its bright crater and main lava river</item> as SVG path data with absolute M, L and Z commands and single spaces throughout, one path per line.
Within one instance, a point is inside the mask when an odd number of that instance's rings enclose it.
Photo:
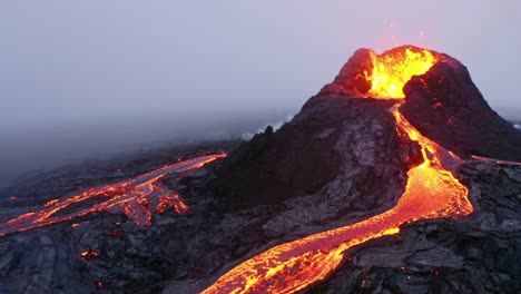
M 482 112 L 489 127 L 468 111 Z M 380 56 L 361 49 L 292 121 L 232 154 L 214 183 L 223 198 L 246 206 L 285 202 L 289 210 L 265 225 L 266 234 L 307 236 L 228 268 L 205 293 L 301 291 L 331 275 L 354 245 L 412 222 L 469 216 L 469 189 L 456 178 L 461 158 L 515 159 L 519 139 L 450 56 L 411 46 Z

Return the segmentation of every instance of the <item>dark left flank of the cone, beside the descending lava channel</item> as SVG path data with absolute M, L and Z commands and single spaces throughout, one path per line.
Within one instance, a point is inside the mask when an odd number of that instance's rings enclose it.
M 313 97 L 279 130 L 267 128 L 232 153 L 212 188 L 246 206 L 281 204 L 326 185 L 330 190 L 351 195 L 353 205 L 358 206 L 352 207 L 355 210 L 363 209 L 364 203 L 373 207 L 393 203 L 411 160 L 419 159 L 419 150 L 396 133 L 387 111 L 392 105 L 375 99 Z M 379 183 L 386 183 L 386 188 Z

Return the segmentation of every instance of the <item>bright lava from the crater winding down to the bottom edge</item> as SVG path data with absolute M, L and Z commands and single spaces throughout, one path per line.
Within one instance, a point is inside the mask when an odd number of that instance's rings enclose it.
M 372 61 L 374 70 L 366 75 L 372 80 L 371 96 L 400 99 L 404 84 L 414 75 L 425 74 L 436 57 L 427 50 L 401 48 L 375 56 Z M 275 246 L 232 268 L 203 293 L 293 293 L 330 275 L 350 247 L 397 234 L 402 224 L 471 214 L 469 190 L 450 170 L 461 159 L 411 126 L 399 111 L 401 104 L 390 111 L 397 128 L 421 146 L 423 163 L 407 171 L 405 192 L 396 206 L 348 226 Z

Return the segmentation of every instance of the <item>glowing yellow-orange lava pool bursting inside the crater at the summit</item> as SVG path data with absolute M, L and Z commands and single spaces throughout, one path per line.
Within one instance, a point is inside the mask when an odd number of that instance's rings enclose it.
M 370 96 L 375 98 L 402 99 L 403 86 L 412 76 L 425 74 L 439 57 L 425 49 L 406 47 L 392 49 L 382 55 L 371 52 L 373 71 L 365 72 L 371 81 Z

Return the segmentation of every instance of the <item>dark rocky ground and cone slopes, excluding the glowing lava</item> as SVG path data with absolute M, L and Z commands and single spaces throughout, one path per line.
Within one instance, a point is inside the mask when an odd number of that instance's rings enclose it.
M 0 293 L 198 293 L 277 244 L 395 206 L 407 170 L 423 158 L 389 111 L 395 101 L 367 97 L 360 74 L 370 67 L 368 56 L 358 50 L 289 122 L 249 141 L 20 179 L 1 194 L 3 220 L 180 156 L 229 151 L 226 159 L 164 178 L 189 209 L 156 214 L 151 226 L 104 212 L 1 236 Z M 453 168 L 474 212 L 411 222 L 400 234 L 352 247 L 337 271 L 301 292 L 519 293 L 521 165 L 513 161 L 520 160 L 521 133 L 488 106 L 466 69 L 449 56 L 413 77 L 404 92 L 400 109 L 411 124 L 464 159 Z

